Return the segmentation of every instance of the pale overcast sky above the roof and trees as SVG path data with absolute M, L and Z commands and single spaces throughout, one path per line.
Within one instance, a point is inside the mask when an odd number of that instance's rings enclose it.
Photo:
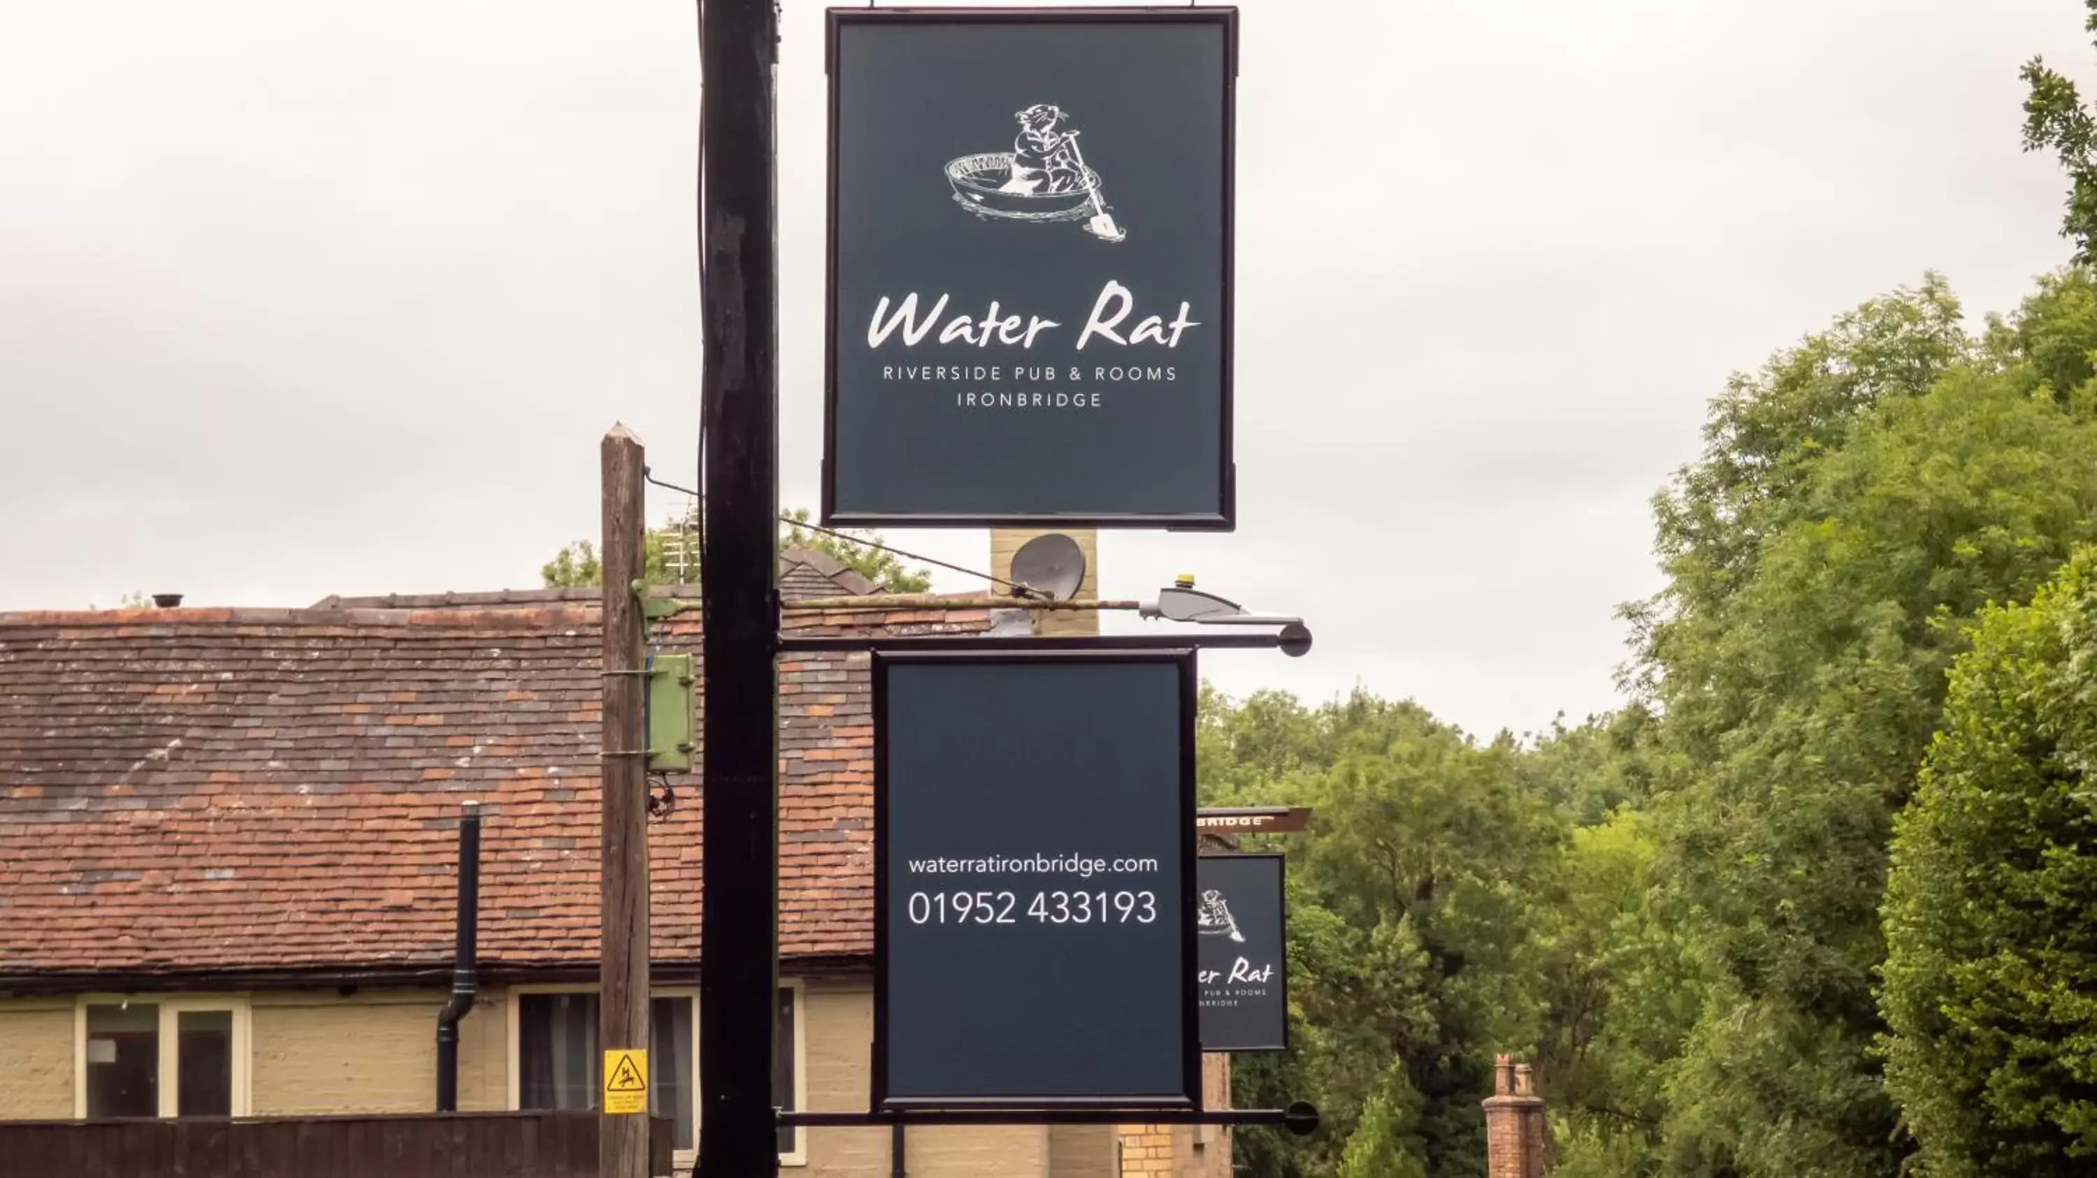
M 1103 591 L 1197 572 L 1317 631 L 1210 656 L 1227 690 L 1361 683 L 1480 734 L 1617 702 L 1648 497 L 1728 371 L 1925 268 L 1977 319 L 2066 258 L 2017 67 L 2097 73 L 2074 0 L 1248 0 L 1241 29 L 1239 528 L 1109 535 Z M 596 532 L 614 419 L 690 482 L 696 105 L 671 0 L 6 4 L 0 608 L 531 587 Z M 822 4 L 786 0 L 786 505 L 816 503 L 822 153 Z

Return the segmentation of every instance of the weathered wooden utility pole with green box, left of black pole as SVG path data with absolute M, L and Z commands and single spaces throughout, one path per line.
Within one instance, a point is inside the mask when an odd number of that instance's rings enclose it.
M 646 568 L 642 440 L 612 426 L 604 463 L 604 755 L 598 914 L 598 1042 L 648 1050 L 648 623 L 633 591 Z M 598 1178 L 648 1178 L 648 1117 L 598 1113 Z

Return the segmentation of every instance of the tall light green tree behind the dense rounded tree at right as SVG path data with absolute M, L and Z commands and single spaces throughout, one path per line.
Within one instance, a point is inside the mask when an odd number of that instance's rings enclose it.
M 1933 277 L 1864 304 L 1736 379 L 1657 503 L 1669 583 L 1629 610 L 1634 681 L 1667 717 L 1657 901 L 1705 979 L 1665 1073 L 1669 1172 L 1900 1165 L 1873 1056 L 1885 845 L 1971 616 L 2091 535 L 2087 392 L 2034 394 L 2068 340 L 2097 348 L 2087 285 L 1986 342 Z

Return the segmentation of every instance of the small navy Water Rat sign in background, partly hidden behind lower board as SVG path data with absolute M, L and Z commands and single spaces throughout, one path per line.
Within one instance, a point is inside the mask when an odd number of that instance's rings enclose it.
M 1202 1050 L 1290 1048 L 1290 966 L 1281 855 L 1202 855 Z

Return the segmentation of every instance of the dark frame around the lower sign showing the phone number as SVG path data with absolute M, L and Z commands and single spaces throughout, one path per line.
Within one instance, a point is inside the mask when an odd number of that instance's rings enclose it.
M 906 664 L 1172 664 L 1179 671 L 1179 851 L 1181 851 L 1181 1092 L 1170 1096 L 1128 1096 L 1103 1092 L 1097 1096 L 891 1096 L 889 1094 L 889 742 L 887 698 L 891 667 Z M 937 1111 L 1202 1111 L 1202 1002 L 1199 1002 L 1199 933 L 1195 931 L 1195 859 L 1199 838 L 1195 813 L 1195 708 L 1202 679 L 1191 648 L 1158 650 L 956 650 L 956 652 L 883 652 L 874 650 L 872 727 L 874 727 L 874 1035 L 868 1107 L 874 1113 L 937 1113 Z

